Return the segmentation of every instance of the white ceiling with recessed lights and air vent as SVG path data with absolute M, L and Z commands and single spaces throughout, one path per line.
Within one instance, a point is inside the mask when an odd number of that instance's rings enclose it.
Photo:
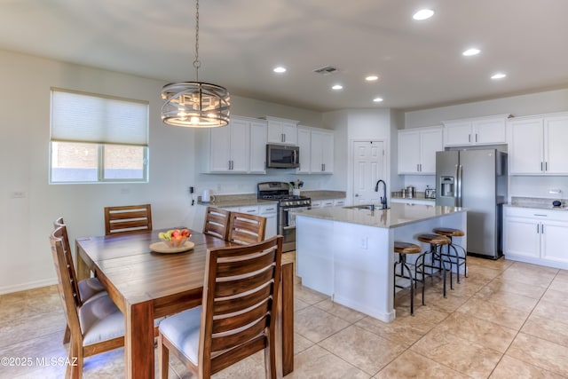
M 423 7 L 434 17 L 412 20 Z M 193 0 L 3 0 L 0 48 L 194 80 L 194 12 Z M 200 80 L 248 98 L 416 109 L 568 87 L 567 0 L 201 0 L 200 13 Z M 313 73 L 327 65 L 339 72 Z

